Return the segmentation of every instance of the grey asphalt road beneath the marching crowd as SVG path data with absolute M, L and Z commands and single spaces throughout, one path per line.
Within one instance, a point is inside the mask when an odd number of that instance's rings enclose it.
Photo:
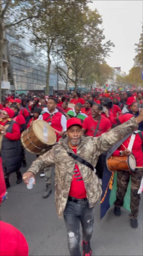
M 28 167 L 35 155 L 26 154 Z M 27 168 L 22 169 L 24 173 Z M 69 255 L 67 235 L 63 221 L 56 215 L 54 203 L 54 170 L 52 175 L 52 194 L 43 199 L 45 178 L 36 177 L 33 189 L 24 183 L 17 185 L 15 173 L 10 177 L 11 187 L 8 199 L 1 206 L 1 220 L 17 227 L 25 235 L 29 244 L 29 255 Z M 128 212 L 116 217 L 113 209 L 100 220 L 100 204 L 95 207 L 94 232 L 91 240 L 93 255 L 104 256 L 142 256 L 143 255 L 143 204 L 139 209 L 139 227 L 132 229 Z

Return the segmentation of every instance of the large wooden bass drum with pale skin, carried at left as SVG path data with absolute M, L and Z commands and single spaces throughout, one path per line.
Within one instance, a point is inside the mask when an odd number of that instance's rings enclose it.
M 21 142 L 27 151 L 38 155 L 47 146 L 55 144 L 56 133 L 48 123 L 37 119 L 21 134 Z

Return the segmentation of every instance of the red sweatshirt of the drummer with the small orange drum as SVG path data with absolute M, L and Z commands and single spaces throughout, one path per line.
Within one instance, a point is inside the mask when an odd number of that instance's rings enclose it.
M 142 136 L 143 136 L 143 132 L 142 132 Z M 126 139 L 126 141 L 123 142 L 123 145 L 128 148 L 129 142 L 130 142 L 130 138 L 131 136 Z M 132 153 L 136 159 L 136 166 L 142 166 L 142 159 L 143 159 L 143 153 L 142 153 L 142 140 L 139 136 L 139 134 L 136 134 L 135 140 L 134 140 L 134 144 L 133 144 L 133 148 L 132 148 Z M 113 153 L 113 156 L 120 156 L 120 151 L 124 151 L 125 148 L 121 145 L 118 150 L 115 150 L 115 152 Z

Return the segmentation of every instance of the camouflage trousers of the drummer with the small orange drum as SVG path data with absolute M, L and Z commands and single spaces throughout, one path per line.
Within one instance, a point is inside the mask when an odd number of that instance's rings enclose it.
M 117 192 L 114 206 L 123 206 L 124 196 L 127 191 L 128 183 L 131 176 L 131 201 L 130 201 L 130 218 L 136 219 L 139 211 L 140 194 L 137 194 L 142 180 L 143 169 L 137 169 L 135 172 L 118 171 L 117 173 Z

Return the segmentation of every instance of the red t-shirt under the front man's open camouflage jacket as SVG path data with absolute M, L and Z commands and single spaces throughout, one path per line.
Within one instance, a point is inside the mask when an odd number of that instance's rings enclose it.
M 76 154 L 77 149 L 73 148 L 73 152 Z M 86 197 L 86 189 L 84 186 L 84 181 L 82 179 L 80 170 L 78 168 L 78 165 L 75 164 L 74 167 L 74 175 L 72 176 L 72 182 L 69 192 L 70 197 L 75 197 L 78 199 L 85 198 Z

